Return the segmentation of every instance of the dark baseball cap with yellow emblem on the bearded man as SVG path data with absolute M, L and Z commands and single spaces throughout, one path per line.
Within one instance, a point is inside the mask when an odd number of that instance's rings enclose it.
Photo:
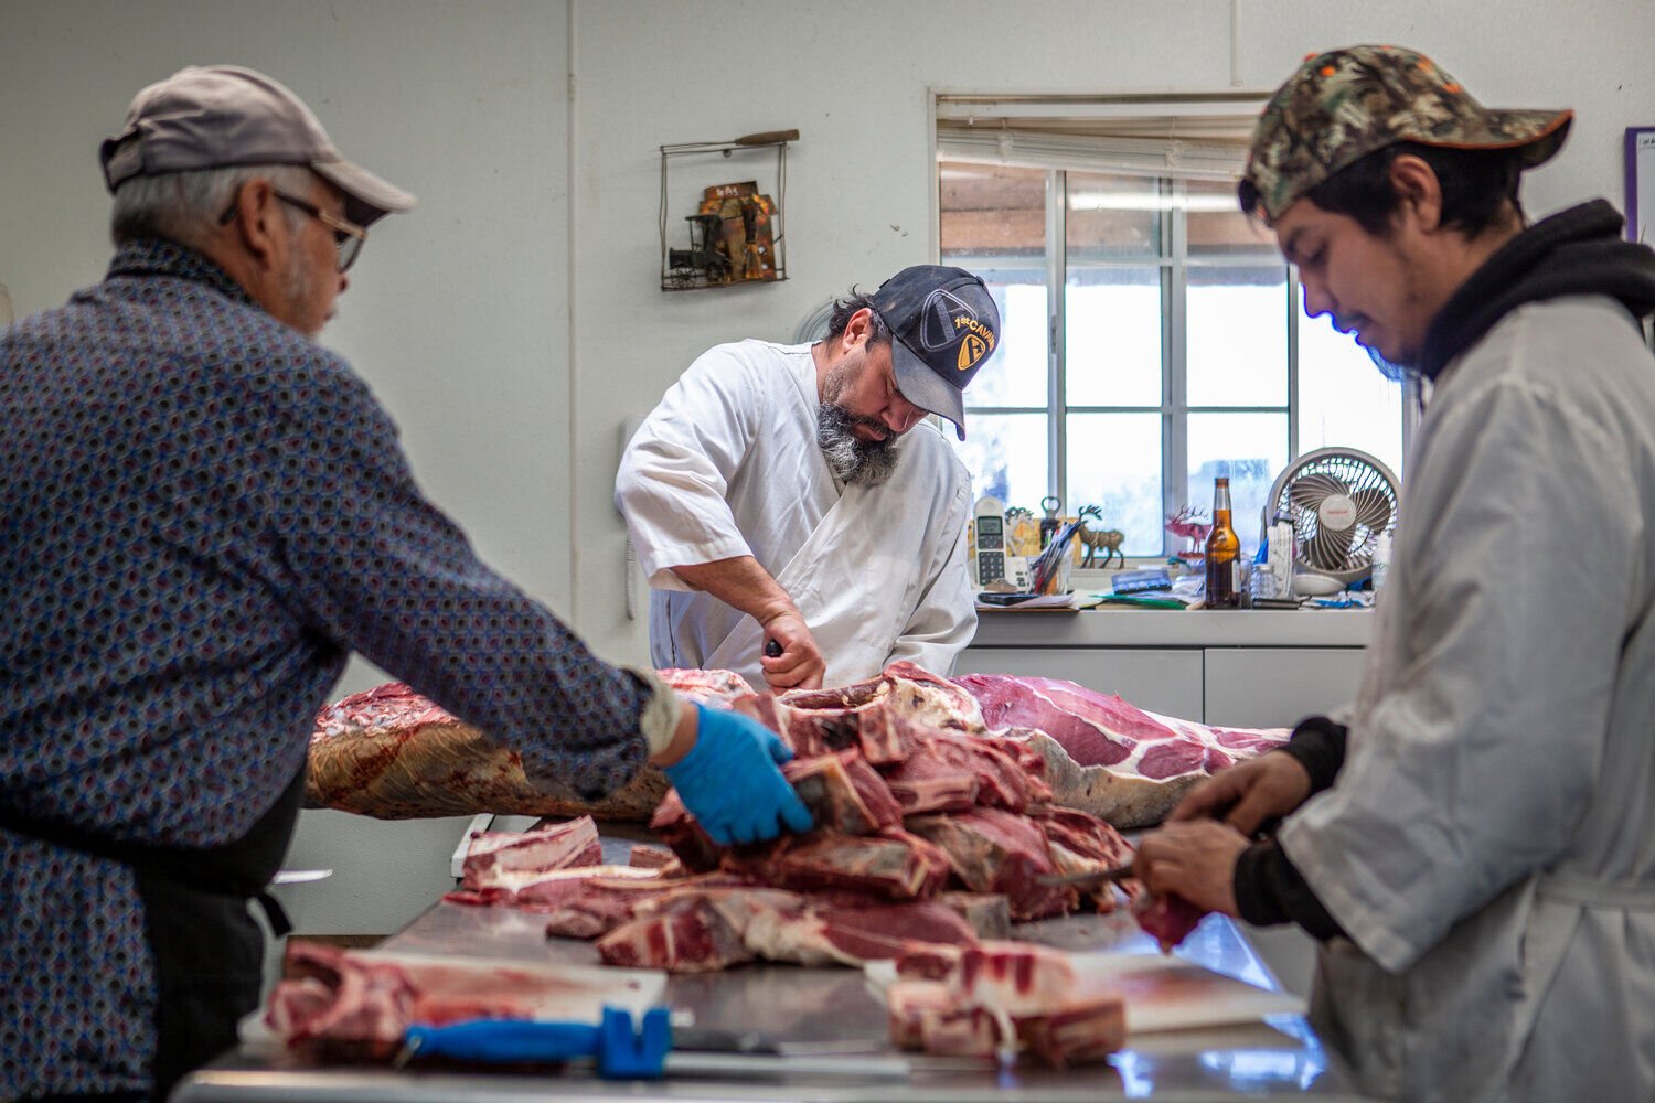
M 897 390 L 953 422 L 965 440 L 963 392 L 1000 346 L 1000 309 L 963 268 L 915 265 L 879 286 L 874 309 L 890 327 Z

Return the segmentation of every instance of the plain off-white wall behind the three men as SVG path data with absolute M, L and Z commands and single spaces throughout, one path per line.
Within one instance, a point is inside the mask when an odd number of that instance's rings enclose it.
M 826 296 L 933 258 L 930 89 L 1268 91 L 1309 51 L 1405 43 L 1491 104 L 1579 111 L 1528 187 L 1534 213 L 1620 203 L 1622 129 L 1655 124 L 1645 0 L 1241 0 L 1240 13 L 1233 74 L 1225 0 L 7 0 L 0 283 L 22 316 L 101 276 L 96 146 L 139 86 L 185 63 L 275 74 L 348 155 L 420 197 L 374 228 L 328 344 L 482 554 L 599 653 L 642 661 L 609 501 L 621 418 L 707 346 L 791 337 Z M 781 127 L 801 131 L 791 279 L 662 294 L 657 147 Z M 745 179 L 713 174 L 682 179 Z M 354 668 L 341 691 L 377 676 Z M 295 863 L 341 870 L 306 926 L 401 924 L 442 886 L 457 833 L 306 815 Z

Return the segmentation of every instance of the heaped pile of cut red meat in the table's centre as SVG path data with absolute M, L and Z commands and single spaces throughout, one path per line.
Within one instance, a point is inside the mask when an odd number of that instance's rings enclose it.
M 1044 759 L 1024 742 L 971 734 L 958 718 L 975 703 L 958 686 L 897 666 L 846 690 L 753 695 L 733 708 L 794 747 L 783 772 L 816 830 L 722 848 L 669 794 L 652 827 L 672 858 L 597 867 L 589 820 L 513 845 L 483 837 L 452 900 L 546 911 L 549 933 L 597 938 L 606 962 L 675 972 L 755 957 L 859 964 L 909 941 L 971 944 L 1003 938 L 1008 919 L 1115 906 L 1112 886 L 1082 896 L 1049 878 L 1124 865 L 1125 840 L 1053 805 Z M 1127 891 L 1142 893 L 1132 881 Z M 1185 931 L 1155 933 L 1175 943 Z

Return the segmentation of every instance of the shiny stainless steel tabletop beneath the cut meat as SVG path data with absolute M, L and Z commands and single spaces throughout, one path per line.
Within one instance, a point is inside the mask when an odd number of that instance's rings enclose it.
M 606 860 L 624 853 L 626 840 L 606 840 Z M 622 858 L 624 860 L 624 858 Z M 1063 949 L 1157 953 L 1124 913 L 1069 916 L 1016 928 L 1018 938 Z M 404 953 L 498 956 L 520 961 L 597 964 L 589 943 L 546 939 L 544 919 L 505 908 L 439 903 L 386 943 Z M 1178 948 L 1178 954 L 1243 981 L 1276 987 L 1274 977 L 1225 916 L 1208 916 Z M 811 1043 L 813 1050 L 861 1057 L 890 1057 L 885 1010 L 864 987 L 857 969 L 745 966 L 717 974 L 672 977 L 667 1000 L 695 1014 L 695 1025 L 758 1030 L 780 1042 Z M 1327 1053 L 1302 1017 L 1271 1019 L 1271 1025 L 1140 1035 L 1132 1048 L 1107 1065 L 1071 1070 L 993 1067 L 938 1068 L 914 1062 L 909 1080 L 856 1077 L 798 1077 L 771 1080 L 604 1082 L 579 1070 L 511 1075 L 493 1072 L 424 1072 L 384 1068 L 311 1068 L 285 1053 L 238 1052 L 189 1077 L 174 1103 L 377 1103 L 381 1100 L 912 1100 L 938 1103 L 1015 1100 L 1238 1100 L 1306 1095 L 1316 1100 L 1357 1100 L 1337 1060 Z

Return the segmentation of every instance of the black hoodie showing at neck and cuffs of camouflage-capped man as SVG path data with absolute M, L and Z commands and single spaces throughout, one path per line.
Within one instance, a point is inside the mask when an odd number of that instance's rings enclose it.
M 1451 359 L 1524 303 L 1607 294 L 1632 319 L 1655 314 L 1655 251 L 1624 241 L 1622 223 L 1620 212 L 1595 198 L 1506 241 L 1432 319 L 1417 369 L 1435 380 Z M 1344 724 L 1326 716 L 1311 716 L 1294 728 L 1284 749 L 1311 774 L 1311 792 L 1334 784 L 1344 764 L 1346 734 Z M 1236 910 L 1250 923 L 1293 921 L 1319 939 L 1344 933 L 1273 838 L 1241 852 L 1235 895 Z

